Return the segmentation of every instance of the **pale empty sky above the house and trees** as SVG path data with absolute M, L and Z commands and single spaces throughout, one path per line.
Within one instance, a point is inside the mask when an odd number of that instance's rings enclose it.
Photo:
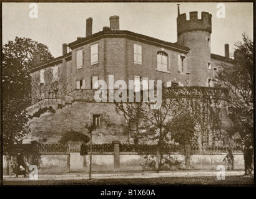
M 190 11 L 212 14 L 211 52 L 224 56 L 224 44 L 242 40 L 245 32 L 253 38 L 253 3 L 224 2 L 225 19 L 218 19 L 219 2 L 181 2 L 180 14 Z M 29 18 L 30 3 L 2 4 L 2 43 L 28 37 L 49 47 L 52 55 L 62 55 L 62 44 L 86 36 L 86 19 L 93 18 L 93 34 L 109 26 L 109 17 L 119 16 L 121 30 L 130 30 L 167 42 L 177 42 L 177 3 L 174 2 L 92 2 L 37 3 L 38 18 Z

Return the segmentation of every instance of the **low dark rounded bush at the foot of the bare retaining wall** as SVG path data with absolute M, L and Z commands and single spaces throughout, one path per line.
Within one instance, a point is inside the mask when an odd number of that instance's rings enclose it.
M 82 132 L 79 131 L 67 131 L 64 134 L 62 134 L 61 139 L 59 140 L 59 143 L 61 144 L 66 144 L 68 141 L 72 141 L 72 142 L 89 142 L 90 138 L 89 136 L 87 136 L 86 134 L 83 134 Z

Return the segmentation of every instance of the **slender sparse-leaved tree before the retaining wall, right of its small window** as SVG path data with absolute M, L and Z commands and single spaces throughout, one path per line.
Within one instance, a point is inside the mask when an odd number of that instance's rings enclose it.
M 169 141 L 170 129 L 174 121 L 189 111 L 189 103 L 185 98 L 179 98 L 172 89 L 163 86 L 162 104 L 158 109 L 151 109 L 150 104 L 146 103 L 144 117 L 140 128 L 140 139 L 151 139 L 157 144 L 157 156 L 155 162 L 155 172 L 159 172 L 161 163 L 161 148 L 165 142 Z M 157 95 L 157 93 L 155 93 Z

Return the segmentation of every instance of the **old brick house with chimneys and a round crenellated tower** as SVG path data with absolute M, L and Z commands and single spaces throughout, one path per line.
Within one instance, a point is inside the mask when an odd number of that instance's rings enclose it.
M 117 116 L 114 105 L 96 105 L 93 99 L 93 92 L 98 88 L 94 83 L 105 80 L 109 86 L 109 75 L 114 75 L 114 81 L 125 80 L 127 83 L 129 80 L 162 80 L 167 87 L 214 86 L 212 78 L 220 65 L 231 61 L 229 45 L 225 45 L 225 57 L 211 53 L 212 15 L 202 12 L 198 19 L 197 12 L 190 12 L 189 18 L 187 20 L 186 14 L 180 14 L 178 8 L 176 43 L 119 30 L 119 16 L 110 17 L 110 27 L 92 34 L 92 18 L 88 18 L 86 37 L 63 44 L 61 57 L 36 63 L 31 69 L 30 114 L 36 107 L 51 105 L 57 109 L 57 104 L 72 104 L 55 113 L 64 112 L 65 121 L 57 116 L 47 116 L 47 127 L 36 127 L 39 121 L 31 121 L 34 123 L 32 131 L 40 131 L 43 136 L 46 131 L 61 133 L 69 128 L 81 129 L 79 125 L 99 120 L 102 130 L 98 131 L 102 134 L 122 132 L 127 137 L 127 124 Z M 76 109 L 71 108 L 75 106 Z

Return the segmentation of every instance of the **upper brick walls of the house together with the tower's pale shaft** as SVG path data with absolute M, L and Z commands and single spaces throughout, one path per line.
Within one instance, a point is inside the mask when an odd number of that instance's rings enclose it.
M 72 50 L 72 60 L 62 60 L 59 64 L 59 82 L 52 86 L 52 66 L 46 69 L 46 83 L 39 85 L 40 71 L 32 73 L 32 104 L 40 97 L 40 90 L 59 88 L 59 96 L 64 96 L 76 89 L 76 81 L 86 80 L 86 89 L 91 89 L 92 76 L 105 80 L 108 85 L 109 75 L 114 75 L 114 81 L 134 80 L 134 76 L 147 77 L 149 80 L 172 81 L 184 86 L 208 86 L 208 78 L 214 72 L 215 60 L 211 60 L 210 47 L 207 47 L 207 37 L 210 33 L 202 30 L 184 32 L 179 35 L 181 45 L 190 47 L 187 55 L 163 48 L 162 45 L 150 45 L 127 38 L 106 37 L 90 44 Z M 91 65 L 91 45 L 98 44 L 98 63 Z M 134 63 L 134 44 L 142 46 L 142 64 Z M 83 50 L 83 67 L 76 68 L 76 52 Z M 168 55 L 169 72 L 157 71 L 157 52 L 164 51 Z M 179 55 L 184 55 L 184 73 L 178 70 Z M 208 62 L 212 64 L 209 70 Z M 48 79 L 47 79 L 48 78 Z M 188 80 L 188 81 L 186 81 Z M 48 87 L 47 87 L 48 86 Z M 41 87 L 41 88 L 40 88 Z

